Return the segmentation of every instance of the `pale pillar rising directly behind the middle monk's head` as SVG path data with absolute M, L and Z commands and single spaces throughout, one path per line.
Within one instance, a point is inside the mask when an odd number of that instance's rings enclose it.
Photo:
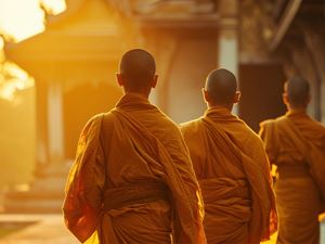
M 220 31 L 218 43 L 218 66 L 231 70 L 238 77 L 238 1 L 220 0 Z M 233 112 L 238 114 L 238 105 Z

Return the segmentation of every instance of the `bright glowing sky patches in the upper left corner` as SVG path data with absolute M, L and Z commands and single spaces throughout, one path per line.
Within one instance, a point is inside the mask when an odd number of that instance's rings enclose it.
M 0 0 L 0 34 L 9 41 L 21 41 L 44 30 L 44 12 L 58 14 L 66 9 L 64 0 Z M 0 38 L 0 52 L 4 41 Z M 1 53 L 1 59 L 2 59 Z M 34 86 L 34 79 L 18 66 L 1 60 L 0 98 L 14 100 L 17 90 Z

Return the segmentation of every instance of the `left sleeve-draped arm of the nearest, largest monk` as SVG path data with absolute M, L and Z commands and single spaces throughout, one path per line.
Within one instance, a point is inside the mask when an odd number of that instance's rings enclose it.
M 80 242 L 95 231 L 101 214 L 105 169 L 99 133 L 99 118 L 94 118 L 81 132 L 66 185 L 64 218 Z

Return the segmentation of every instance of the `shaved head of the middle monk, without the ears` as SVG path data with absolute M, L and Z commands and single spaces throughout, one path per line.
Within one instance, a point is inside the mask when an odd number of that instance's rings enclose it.
M 236 77 L 224 68 L 214 69 L 207 77 L 205 90 L 214 104 L 232 104 L 237 91 Z

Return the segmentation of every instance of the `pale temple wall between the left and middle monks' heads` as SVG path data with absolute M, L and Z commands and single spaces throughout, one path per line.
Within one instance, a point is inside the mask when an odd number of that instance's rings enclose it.
M 158 85 L 153 101 L 176 123 L 206 110 L 202 88 L 218 65 L 216 28 L 147 28 L 145 47 L 156 57 Z

